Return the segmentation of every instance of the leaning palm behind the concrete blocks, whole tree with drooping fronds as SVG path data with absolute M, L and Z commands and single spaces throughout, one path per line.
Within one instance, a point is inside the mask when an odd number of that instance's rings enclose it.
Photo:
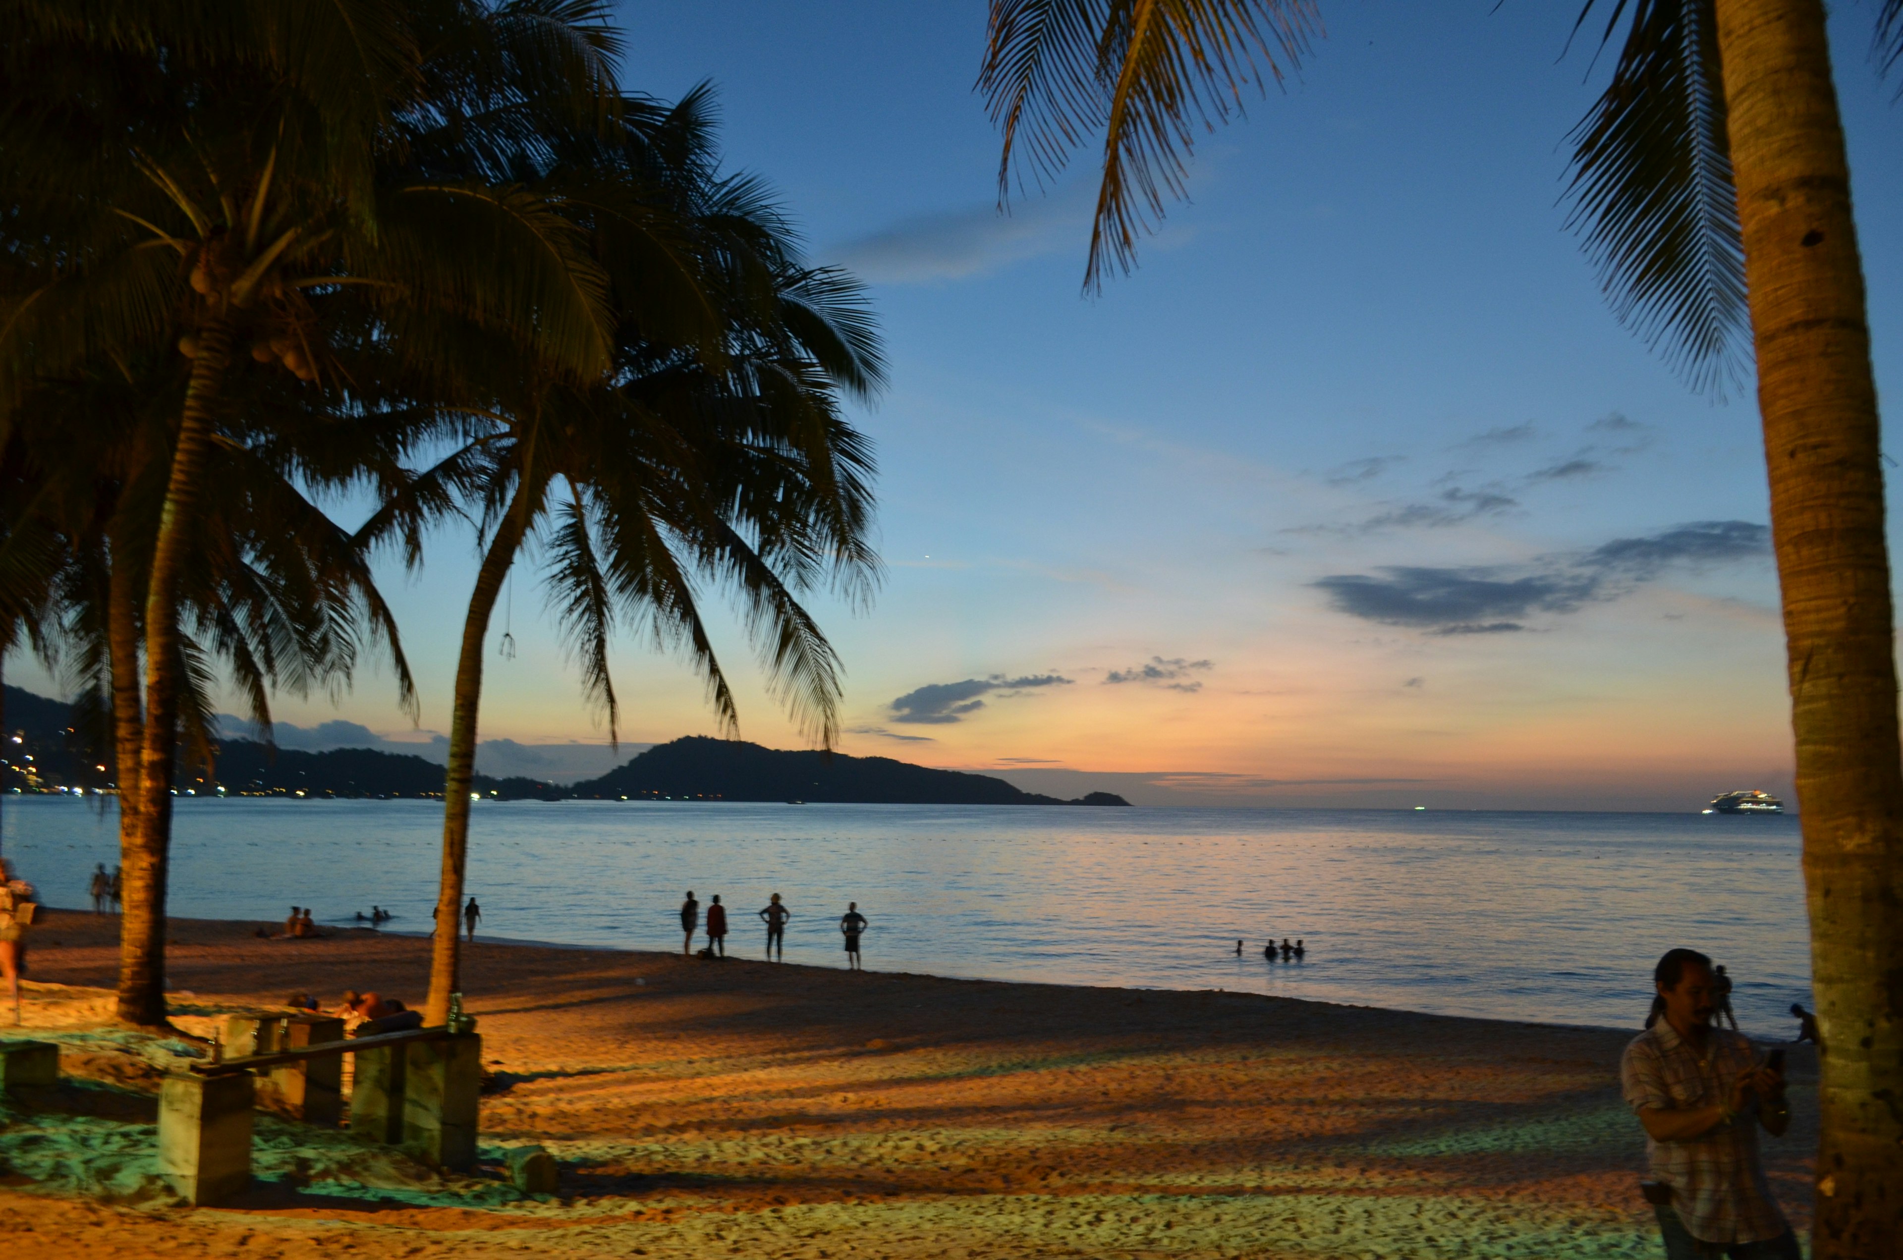
M 750 179 L 716 179 L 708 95 L 670 110 L 628 101 L 615 135 L 571 137 L 544 183 L 609 263 L 617 352 L 575 384 L 535 364 L 466 362 L 466 442 L 422 472 L 367 527 L 407 537 L 462 499 L 480 522 L 481 563 L 464 617 L 449 729 L 443 870 L 424 1018 L 461 988 L 457 915 L 468 855 L 483 645 L 504 579 L 540 541 L 558 619 L 613 738 L 607 668 L 618 624 L 685 647 L 729 731 L 736 708 L 700 615 L 698 584 L 727 586 L 755 634 L 778 697 L 822 744 L 837 731 L 837 659 L 797 592 L 834 582 L 864 598 L 877 569 L 866 535 L 872 457 L 839 415 L 883 369 L 849 278 L 799 265 L 784 219 Z M 632 207 L 645 206 L 647 213 Z M 691 257 L 691 293 L 657 287 L 645 263 L 658 230 Z M 672 306 L 689 301 L 696 310 Z M 719 337 L 693 331 L 712 312 Z M 672 335 L 670 335 L 672 333 Z

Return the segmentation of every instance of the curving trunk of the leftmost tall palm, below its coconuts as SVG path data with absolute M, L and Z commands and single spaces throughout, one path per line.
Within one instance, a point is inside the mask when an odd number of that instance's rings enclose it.
M 171 767 L 179 727 L 179 582 L 190 561 L 190 518 L 204 489 L 206 455 L 211 447 L 211 409 L 230 360 L 230 324 L 221 314 L 198 333 L 198 358 L 185 392 L 179 442 L 171 453 L 166 504 L 152 544 L 152 571 L 145 596 L 145 735 L 139 778 L 133 788 L 137 815 L 131 832 L 120 830 L 126 917 L 120 919 L 118 1018 L 128 1024 L 166 1022 L 166 862 L 171 849 Z M 124 803 L 124 796 L 120 797 Z

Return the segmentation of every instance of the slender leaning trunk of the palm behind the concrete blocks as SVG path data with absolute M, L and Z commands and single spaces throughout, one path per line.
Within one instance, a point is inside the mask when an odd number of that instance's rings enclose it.
M 468 872 L 470 784 L 476 780 L 476 716 L 481 708 L 481 660 L 489 638 L 489 617 L 502 590 L 502 579 L 516 561 L 527 531 L 529 489 L 502 514 L 495 539 L 476 571 L 476 590 L 462 619 L 462 655 L 457 657 L 455 710 L 449 716 L 449 773 L 443 777 L 443 876 L 436 893 L 436 938 L 430 950 L 430 997 L 422 1022 L 436 1026 L 449 1018 L 449 995 L 462 988 L 462 879 Z

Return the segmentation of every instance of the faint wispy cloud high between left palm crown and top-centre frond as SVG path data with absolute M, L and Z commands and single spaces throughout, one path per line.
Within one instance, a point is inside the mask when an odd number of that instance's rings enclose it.
M 1075 247 L 1089 228 L 1089 187 L 1077 181 L 1049 198 L 1028 198 L 1012 213 L 974 206 L 902 219 L 828 251 L 828 261 L 870 284 L 932 284 L 982 276 Z

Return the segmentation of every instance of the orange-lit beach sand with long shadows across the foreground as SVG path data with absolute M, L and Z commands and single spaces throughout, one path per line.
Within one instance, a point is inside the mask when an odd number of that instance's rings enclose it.
M 186 1028 L 293 990 L 421 1003 L 426 940 L 257 927 L 173 921 Z M 116 919 L 51 912 L 34 931 L 25 1032 L 88 1075 L 110 1077 L 124 1043 L 97 1032 L 108 994 L 88 988 L 114 963 Z M 61 1260 L 1659 1254 L 1618 1096 L 1631 1032 L 483 940 L 464 988 L 495 1073 L 485 1157 L 546 1146 L 556 1199 L 261 1119 L 247 1199 L 169 1207 L 126 1190 L 150 1182 L 141 1100 L 95 1091 L 126 1112 L 84 1119 L 129 1152 L 118 1180 L 59 1182 L 53 1138 L 15 1113 L 0 1237 Z M 1793 1132 L 1766 1153 L 1802 1231 L 1810 1047 L 1791 1073 Z

